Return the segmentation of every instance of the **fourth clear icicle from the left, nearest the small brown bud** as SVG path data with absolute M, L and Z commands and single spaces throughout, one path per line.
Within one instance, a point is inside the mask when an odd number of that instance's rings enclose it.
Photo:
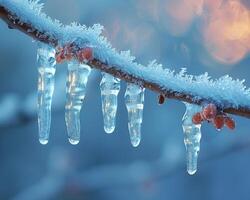
M 143 117 L 144 88 L 128 83 L 125 103 L 128 110 L 128 130 L 131 144 L 137 147 L 141 141 L 141 123 Z

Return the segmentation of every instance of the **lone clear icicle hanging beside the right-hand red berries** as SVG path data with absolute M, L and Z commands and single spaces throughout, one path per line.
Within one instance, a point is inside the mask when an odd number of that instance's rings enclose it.
M 197 160 L 201 140 L 201 124 L 193 124 L 192 117 L 195 113 L 201 111 L 201 107 L 189 103 L 185 103 L 185 105 L 186 112 L 182 119 L 182 128 L 186 147 L 187 172 L 193 175 L 197 171 Z

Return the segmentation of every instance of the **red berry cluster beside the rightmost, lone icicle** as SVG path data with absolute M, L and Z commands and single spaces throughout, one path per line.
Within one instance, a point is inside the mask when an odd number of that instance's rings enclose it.
M 231 130 L 235 128 L 234 120 L 226 113 L 219 112 L 212 103 L 207 104 L 201 112 L 196 113 L 192 121 L 194 124 L 201 124 L 203 121 L 212 122 L 217 130 L 222 129 L 224 125 Z

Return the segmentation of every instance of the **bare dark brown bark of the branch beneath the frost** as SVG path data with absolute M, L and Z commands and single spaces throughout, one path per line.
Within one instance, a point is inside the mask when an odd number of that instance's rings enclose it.
M 0 18 L 7 23 L 8 27 L 11 29 L 17 29 L 26 35 L 32 37 L 33 39 L 50 44 L 54 47 L 58 46 L 59 38 L 49 33 L 49 31 L 41 31 L 35 28 L 35 24 L 25 23 L 20 17 L 10 12 L 6 7 L 1 5 L 0 3 Z M 149 81 L 144 79 L 141 76 L 137 76 L 136 74 L 129 73 L 122 68 L 117 68 L 116 66 L 110 66 L 101 60 L 94 58 L 93 60 L 88 62 L 92 68 L 99 69 L 103 72 L 109 73 L 114 77 L 122 79 L 126 82 L 131 82 L 135 84 L 140 84 L 142 87 L 145 87 L 149 90 L 152 90 L 156 93 L 164 95 L 169 99 L 176 99 L 179 101 L 184 101 L 193 104 L 202 104 L 203 102 L 211 102 L 216 104 L 223 112 L 230 113 L 242 117 L 250 118 L 250 107 L 249 106 L 238 106 L 237 108 L 233 106 L 231 102 L 224 102 L 223 105 L 218 103 L 214 98 L 196 98 L 195 95 L 191 93 L 179 92 L 169 89 L 167 87 L 163 87 L 158 84 L 157 81 Z M 157 77 L 156 77 L 157 78 Z

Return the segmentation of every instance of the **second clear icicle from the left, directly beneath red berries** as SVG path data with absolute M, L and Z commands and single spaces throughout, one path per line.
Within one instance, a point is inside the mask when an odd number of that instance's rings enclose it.
M 80 141 L 80 111 L 90 72 L 91 68 L 86 64 L 77 61 L 68 63 L 65 121 L 69 142 L 73 145 Z

